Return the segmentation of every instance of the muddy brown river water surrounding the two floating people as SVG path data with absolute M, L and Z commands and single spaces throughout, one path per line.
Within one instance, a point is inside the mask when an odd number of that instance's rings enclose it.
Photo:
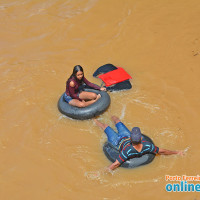
M 199 12 L 197 0 L 2 0 L 1 198 L 198 199 L 165 192 L 164 177 L 199 170 Z M 106 63 L 124 67 L 133 88 L 109 93 L 99 119 L 114 127 L 117 115 L 184 157 L 103 172 L 105 134 L 59 113 L 57 101 L 75 65 L 100 85 L 92 74 Z

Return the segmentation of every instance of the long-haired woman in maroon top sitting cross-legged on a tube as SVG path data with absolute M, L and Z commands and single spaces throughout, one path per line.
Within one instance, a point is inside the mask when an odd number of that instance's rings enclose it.
M 96 90 L 106 91 L 106 88 L 101 88 L 89 82 L 84 77 L 83 68 L 80 65 L 76 65 L 73 69 L 72 75 L 66 82 L 66 92 L 64 94 L 64 99 L 67 103 L 72 106 L 83 108 L 93 104 L 99 98 L 101 98 L 100 94 L 97 95 L 94 92 L 80 91 L 79 87 L 83 85 L 83 83 Z

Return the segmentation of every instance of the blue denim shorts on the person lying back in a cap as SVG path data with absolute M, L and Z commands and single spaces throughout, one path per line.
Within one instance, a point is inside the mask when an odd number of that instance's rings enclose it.
M 116 125 L 118 133 L 116 133 L 110 126 L 108 126 L 104 132 L 106 133 L 108 137 L 108 141 L 114 145 L 117 146 L 119 145 L 119 141 L 123 137 L 130 137 L 131 132 L 128 130 L 128 128 L 122 123 L 118 122 Z

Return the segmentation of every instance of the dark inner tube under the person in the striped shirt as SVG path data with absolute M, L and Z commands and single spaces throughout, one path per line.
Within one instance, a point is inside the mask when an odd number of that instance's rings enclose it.
M 153 141 L 146 135 L 142 135 L 142 140 L 153 143 Z M 110 142 L 106 142 L 103 146 L 103 151 L 106 157 L 111 161 L 115 162 L 116 158 L 119 156 L 119 151 L 117 147 L 113 146 Z M 144 154 L 141 157 L 131 158 L 126 162 L 122 163 L 120 166 L 124 168 L 135 168 L 142 165 L 146 165 L 153 161 L 155 154 Z

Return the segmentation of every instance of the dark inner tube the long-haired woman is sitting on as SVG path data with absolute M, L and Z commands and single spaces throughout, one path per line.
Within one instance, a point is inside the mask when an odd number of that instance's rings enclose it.
M 98 99 L 95 103 L 84 107 L 84 108 L 78 108 L 75 106 L 71 106 L 64 100 L 64 94 L 60 97 L 58 101 L 58 110 L 72 118 L 72 119 L 79 119 L 79 120 L 85 120 L 85 119 L 91 119 L 93 117 L 96 117 L 100 114 L 102 114 L 110 105 L 110 96 L 107 92 L 94 90 L 94 89 L 84 89 L 84 91 L 87 92 L 94 92 L 96 94 L 101 94 L 101 98 Z

